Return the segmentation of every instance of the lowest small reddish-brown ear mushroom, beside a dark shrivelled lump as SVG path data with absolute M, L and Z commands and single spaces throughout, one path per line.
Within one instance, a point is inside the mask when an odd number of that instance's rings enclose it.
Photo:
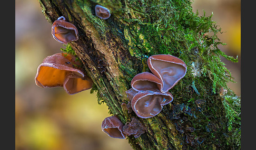
M 123 134 L 123 124 L 118 119 L 117 116 L 109 116 L 106 117 L 102 124 L 101 129 L 103 132 L 105 132 L 107 135 L 113 138 L 125 138 L 125 134 Z

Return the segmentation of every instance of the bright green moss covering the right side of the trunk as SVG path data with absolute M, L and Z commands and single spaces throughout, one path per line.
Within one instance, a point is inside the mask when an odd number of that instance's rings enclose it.
M 240 116 L 236 112 L 239 112 L 240 104 L 233 106 L 234 100 L 230 97 L 222 99 L 219 95 L 219 89 L 228 89 L 227 82 L 234 82 L 220 58 L 232 62 L 237 62 L 238 58 L 227 56 L 218 48 L 225 44 L 218 38 L 222 31 L 212 21 L 212 15 L 193 13 L 189 1 L 139 3 L 131 0 L 127 2 L 127 7 L 126 13 L 130 17 L 123 19 L 127 23 L 124 37 L 132 56 L 143 62 L 145 56 L 170 54 L 179 57 L 188 66 L 186 76 L 170 92 L 174 96 L 173 104 L 185 103 L 191 108 L 194 115 L 186 117 L 190 117 L 191 123 L 198 129 L 191 135 L 198 137 L 199 141 L 205 139 L 198 148 L 202 149 L 209 143 L 219 145 L 221 141 L 227 141 L 224 138 L 232 136 L 237 137 L 237 141 L 228 140 L 229 143 L 221 145 L 235 143 L 239 147 Z M 204 103 L 197 105 L 196 100 Z M 227 126 L 221 128 L 223 124 Z M 201 131 L 206 131 L 206 134 L 202 135 Z

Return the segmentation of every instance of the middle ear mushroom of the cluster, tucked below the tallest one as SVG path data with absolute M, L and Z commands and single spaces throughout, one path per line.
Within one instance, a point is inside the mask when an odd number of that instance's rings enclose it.
M 131 81 L 131 86 L 136 91 L 159 91 L 161 80 L 150 72 L 136 74 Z

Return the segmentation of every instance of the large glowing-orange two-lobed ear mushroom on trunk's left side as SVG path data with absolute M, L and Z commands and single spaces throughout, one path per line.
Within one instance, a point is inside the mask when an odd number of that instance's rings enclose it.
M 56 53 L 46 57 L 37 68 L 35 83 L 41 88 L 64 87 L 67 94 L 75 94 L 92 88 L 92 80 L 86 77 L 71 54 Z

